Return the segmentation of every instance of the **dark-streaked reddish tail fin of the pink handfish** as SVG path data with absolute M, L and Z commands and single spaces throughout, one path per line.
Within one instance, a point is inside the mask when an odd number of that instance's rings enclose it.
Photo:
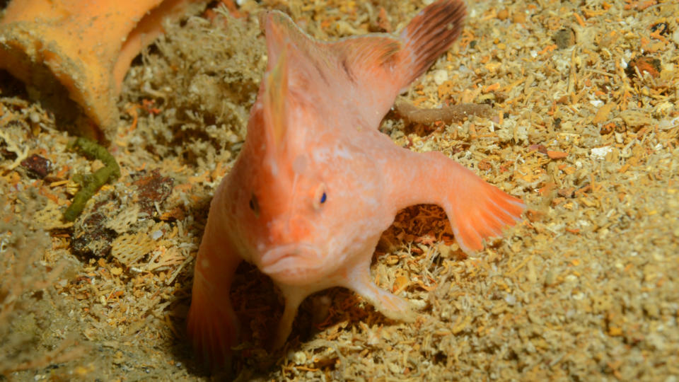
M 401 31 L 402 73 L 411 74 L 402 87 L 421 76 L 462 32 L 467 12 L 462 0 L 439 0 L 429 4 Z

